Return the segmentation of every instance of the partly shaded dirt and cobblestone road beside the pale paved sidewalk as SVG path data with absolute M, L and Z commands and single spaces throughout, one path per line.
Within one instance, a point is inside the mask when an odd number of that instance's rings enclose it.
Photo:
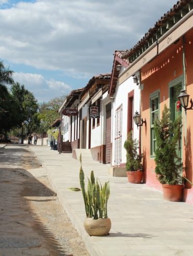
M 0 149 L 0 196 L 1 256 L 89 255 L 28 147 Z

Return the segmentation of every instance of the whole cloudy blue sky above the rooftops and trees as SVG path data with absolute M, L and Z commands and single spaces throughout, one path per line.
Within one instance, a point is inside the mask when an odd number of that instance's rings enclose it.
M 0 60 L 39 102 L 112 71 L 177 0 L 0 0 Z

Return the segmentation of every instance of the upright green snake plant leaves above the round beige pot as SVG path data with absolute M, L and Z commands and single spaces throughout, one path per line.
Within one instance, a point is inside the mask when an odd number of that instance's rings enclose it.
M 109 181 L 102 186 L 100 181 L 94 177 L 91 171 L 90 179 L 88 178 L 87 191 L 85 189 L 85 173 L 82 169 L 82 160 L 80 155 L 80 187 L 82 190 L 83 200 L 85 202 L 85 211 L 88 218 L 98 219 L 107 218 L 107 202 L 110 197 Z M 70 188 L 72 190 L 72 188 Z M 77 188 L 74 188 L 77 189 Z

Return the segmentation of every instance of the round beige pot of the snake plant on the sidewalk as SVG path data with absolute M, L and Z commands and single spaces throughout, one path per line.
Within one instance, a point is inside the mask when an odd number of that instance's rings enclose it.
M 86 218 L 85 219 L 85 229 L 90 236 L 106 236 L 111 229 L 111 219 L 110 218 Z

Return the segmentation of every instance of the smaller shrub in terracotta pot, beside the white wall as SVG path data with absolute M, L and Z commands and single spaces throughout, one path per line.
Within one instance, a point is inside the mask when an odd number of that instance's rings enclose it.
M 130 183 L 141 183 L 143 177 L 142 155 L 138 154 L 138 141 L 137 139 L 132 139 L 131 132 L 128 133 L 124 148 L 127 152 L 126 170 L 128 181 Z

